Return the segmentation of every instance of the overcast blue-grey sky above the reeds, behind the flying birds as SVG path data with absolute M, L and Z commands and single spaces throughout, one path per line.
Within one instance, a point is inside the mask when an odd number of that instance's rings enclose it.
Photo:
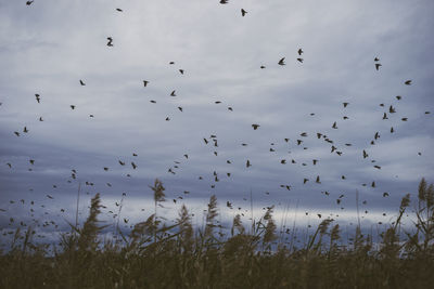
M 100 193 L 113 222 L 125 193 L 128 226 L 153 213 L 155 179 L 168 220 L 186 203 L 201 225 L 215 194 L 224 220 L 275 205 L 297 224 L 355 222 L 358 192 L 366 224 L 390 222 L 434 182 L 433 13 L 431 0 L 0 0 L 0 231 L 67 227 L 79 184 L 80 219 Z

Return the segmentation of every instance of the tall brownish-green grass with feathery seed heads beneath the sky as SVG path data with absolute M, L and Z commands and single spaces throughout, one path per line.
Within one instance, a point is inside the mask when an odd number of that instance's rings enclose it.
M 217 198 L 209 199 L 203 228 L 194 228 L 186 206 L 174 225 L 157 218 L 164 187 L 156 180 L 155 212 L 137 223 L 122 244 L 103 239 L 100 196 L 89 216 L 59 245 L 37 245 L 35 231 L 16 229 L 11 249 L 0 255 L 1 288 L 434 288 L 434 186 L 419 185 L 414 227 L 399 234 L 410 196 L 381 235 L 380 247 L 358 225 L 345 245 L 341 227 L 323 220 L 296 249 L 277 234 L 273 207 L 245 229 L 235 215 L 229 237 L 216 227 Z M 247 233 L 248 232 L 248 233 Z M 53 249 L 50 251 L 50 249 Z M 52 253 L 53 252 L 53 253 Z

